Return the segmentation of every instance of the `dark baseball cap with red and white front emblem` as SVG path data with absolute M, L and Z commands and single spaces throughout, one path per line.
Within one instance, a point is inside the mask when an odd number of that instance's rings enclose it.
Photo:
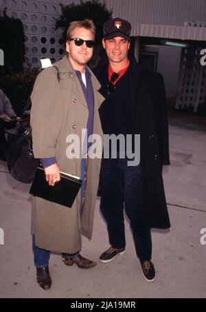
M 131 28 L 132 26 L 130 23 L 124 19 L 120 19 L 120 17 L 109 19 L 103 26 L 104 39 L 122 37 L 126 40 L 130 40 Z

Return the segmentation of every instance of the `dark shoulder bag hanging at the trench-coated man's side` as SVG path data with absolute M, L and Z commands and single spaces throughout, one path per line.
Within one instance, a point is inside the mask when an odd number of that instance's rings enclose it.
M 8 148 L 6 158 L 12 177 L 22 183 L 31 183 L 39 161 L 32 151 L 32 129 L 30 121 L 25 118 L 25 112 L 30 105 L 30 99 L 25 105 L 23 115 L 16 127 L 8 130 Z

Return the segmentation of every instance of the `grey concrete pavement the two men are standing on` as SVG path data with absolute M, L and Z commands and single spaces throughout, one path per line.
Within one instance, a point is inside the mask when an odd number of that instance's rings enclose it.
M 197 118 L 196 118 L 197 117 Z M 198 129 L 201 129 L 199 131 Z M 170 112 L 171 165 L 163 171 L 172 227 L 152 230 L 157 271 L 154 283 L 144 280 L 126 222 L 126 253 L 91 270 L 66 267 L 52 254 L 52 288 L 36 283 L 30 236 L 30 185 L 14 180 L 0 161 L 0 298 L 206 298 L 206 117 Z M 84 239 L 82 256 L 98 261 L 108 248 L 106 226 L 96 202 L 93 238 Z

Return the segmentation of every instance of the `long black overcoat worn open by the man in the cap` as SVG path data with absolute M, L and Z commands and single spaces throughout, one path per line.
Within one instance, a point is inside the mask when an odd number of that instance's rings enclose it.
M 150 228 L 168 229 L 170 219 L 165 201 L 162 165 L 170 165 L 170 156 L 163 77 L 157 72 L 144 70 L 135 59 L 130 61 L 128 70 L 132 101 L 131 129 L 133 134 L 140 134 L 140 162 L 144 171 L 144 205 L 148 223 Z M 102 85 L 100 93 L 105 97 L 108 64 L 95 74 Z

